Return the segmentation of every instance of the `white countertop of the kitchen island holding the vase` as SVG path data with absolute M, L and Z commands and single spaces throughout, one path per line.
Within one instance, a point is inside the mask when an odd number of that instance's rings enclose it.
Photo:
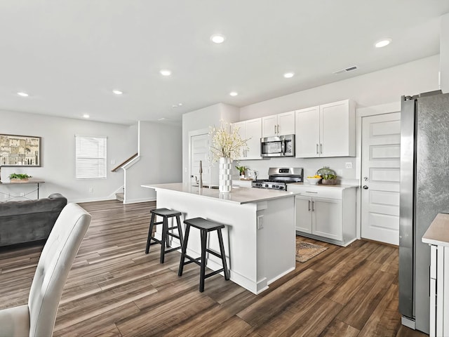
M 199 187 L 185 185 L 182 183 L 142 185 L 142 187 L 154 188 L 154 190 L 156 191 L 168 190 L 172 192 L 194 194 L 201 197 L 233 202 L 237 204 L 248 204 L 251 202 L 291 197 L 296 194 L 295 192 L 285 192 L 253 187 L 232 187 L 231 192 L 220 193 L 220 191 L 217 189 L 208 187 L 203 187 L 200 189 Z

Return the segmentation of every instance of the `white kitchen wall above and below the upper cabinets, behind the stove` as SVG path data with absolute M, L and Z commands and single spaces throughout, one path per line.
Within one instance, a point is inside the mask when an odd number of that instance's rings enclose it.
M 357 112 L 377 105 L 391 106 L 388 103 L 397 103 L 395 106 L 399 110 L 401 95 L 415 95 L 438 89 L 438 69 L 439 55 L 434 55 L 379 72 L 364 74 L 344 81 L 327 84 L 326 86 L 319 86 L 241 107 L 240 120 L 278 114 L 347 98 L 357 103 Z M 359 130 L 357 130 L 356 134 L 360 134 Z M 359 177 L 357 176 L 356 161 L 357 159 L 354 157 L 316 159 L 271 158 L 241 161 L 241 164 L 258 171 L 259 175 L 257 178 L 267 178 L 269 167 L 303 167 L 304 176 L 309 176 L 314 175 L 316 170 L 321 169 L 323 166 L 330 166 L 344 182 L 357 183 Z M 346 162 L 352 162 L 353 169 L 346 169 Z

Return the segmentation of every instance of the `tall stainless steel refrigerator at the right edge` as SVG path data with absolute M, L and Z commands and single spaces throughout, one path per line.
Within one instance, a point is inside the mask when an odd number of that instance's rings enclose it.
M 437 213 L 449 211 L 449 93 L 401 99 L 399 312 L 402 324 L 429 333 L 429 245 Z

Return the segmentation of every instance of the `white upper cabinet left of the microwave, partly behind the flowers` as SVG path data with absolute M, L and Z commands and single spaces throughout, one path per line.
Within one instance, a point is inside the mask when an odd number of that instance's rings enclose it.
M 232 124 L 239 128 L 241 139 L 248 139 L 246 144 L 248 150 L 243 150 L 242 157 L 239 160 L 262 159 L 260 157 L 260 138 L 262 138 L 262 119 L 255 118 L 248 121 L 239 121 Z

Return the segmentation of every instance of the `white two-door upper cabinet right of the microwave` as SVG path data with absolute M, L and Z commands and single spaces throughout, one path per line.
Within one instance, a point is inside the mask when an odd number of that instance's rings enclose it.
M 341 100 L 295 112 L 296 157 L 354 157 L 356 110 Z

